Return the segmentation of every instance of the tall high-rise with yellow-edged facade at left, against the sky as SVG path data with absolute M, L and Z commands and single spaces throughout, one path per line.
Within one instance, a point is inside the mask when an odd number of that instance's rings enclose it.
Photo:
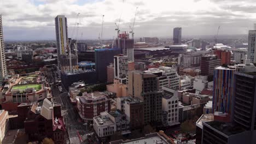
M 58 68 L 61 70 L 61 55 L 65 55 L 68 47 L 67 18 L 64 15 L 55 17 L 55 32 L 57 41 Z

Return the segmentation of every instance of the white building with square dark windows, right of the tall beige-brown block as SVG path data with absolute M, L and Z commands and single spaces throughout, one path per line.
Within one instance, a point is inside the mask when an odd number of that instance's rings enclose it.
M 162 97 L 162 123 L 164 125 L 179 124 L 178 97 L 171 97 L 166 94 Z

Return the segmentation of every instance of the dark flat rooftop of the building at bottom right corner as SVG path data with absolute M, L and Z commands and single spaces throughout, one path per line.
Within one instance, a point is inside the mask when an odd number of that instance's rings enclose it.
M 243 129 L 242 127 L 234 126 L 231 123 L 218 122 L 218 121 L 211 121 L 211 122 L 205 122 L 205 123 L 228 136 L 239 134 L 245 131 L 245 129 Z

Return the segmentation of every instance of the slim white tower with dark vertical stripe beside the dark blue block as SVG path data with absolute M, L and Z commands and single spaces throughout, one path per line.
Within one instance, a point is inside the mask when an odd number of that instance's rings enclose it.
M 114 77 L 120 83 L 126 84 L 128 74 L 128 56 L 114 56 Z

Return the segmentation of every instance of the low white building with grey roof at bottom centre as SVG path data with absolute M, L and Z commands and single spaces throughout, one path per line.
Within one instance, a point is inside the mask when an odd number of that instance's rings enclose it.
M 115 134 L 129 134 L 130 123 L 125 119 L 123 112 L 117 110 L 112 112 L 101 112 L 100 116 L 94 117 L 94 130 L 98 137 Z

